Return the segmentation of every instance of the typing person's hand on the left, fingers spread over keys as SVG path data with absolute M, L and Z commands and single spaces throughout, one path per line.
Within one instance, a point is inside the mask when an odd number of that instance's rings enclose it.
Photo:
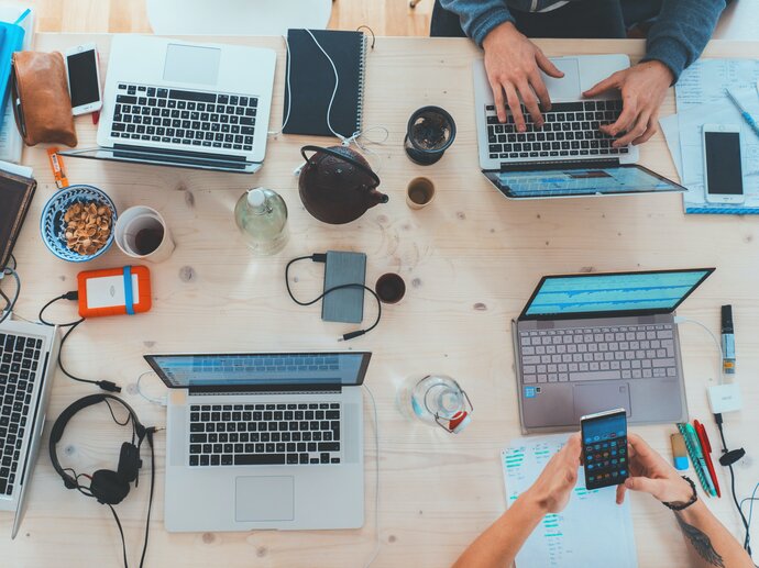
M 563 77 L 538 46 L 517 31 L 512 22 L 504 22 L 487 34 L 482 44 L 485 49 L 485 70 L 493 89 L 495 109 L 501 122 L 506 122 L 506 104 L 514 115 L 518 132 L 525 132 L 525 116 L 519 97 L 525 102 L 532 121 L 543 124 L 540 107 L 551 108 L 548 89 L 540 69 L 551 77 Z M 537 97 L 536 97 L 537 94 Z

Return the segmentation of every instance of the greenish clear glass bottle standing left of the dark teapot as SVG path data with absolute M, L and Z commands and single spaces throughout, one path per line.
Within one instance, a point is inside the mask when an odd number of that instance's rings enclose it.
M 275 255 L 287 244 L 287 205 L 271 189 L 243 193 L 234 207 L 234 222 L 255 255 Z

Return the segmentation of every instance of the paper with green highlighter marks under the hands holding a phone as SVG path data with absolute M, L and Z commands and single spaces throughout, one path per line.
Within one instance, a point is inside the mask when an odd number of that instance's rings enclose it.
M 557 434 L 517 438 L 503 452 L 509 506 L 538 479 L 568 437 L 568 434 Z M 614 487 L 586 490 L 581 468 L 566 509 L 543 517 L 517 554 L 517 567 L 637 567 L 629 499 L 622 505 L 615 499 Z

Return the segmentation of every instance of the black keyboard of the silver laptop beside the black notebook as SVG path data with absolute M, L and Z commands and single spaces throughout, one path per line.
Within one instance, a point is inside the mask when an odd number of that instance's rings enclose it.
M 257 105 L 256 97 L 119 83 L 111 136 L 250 152 Z

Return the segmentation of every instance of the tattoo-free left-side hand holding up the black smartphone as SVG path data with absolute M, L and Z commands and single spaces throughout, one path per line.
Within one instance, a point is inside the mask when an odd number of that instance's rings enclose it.
M 543 514 L 562 511 L 578 482 L 580 467 L 580 434 L 572 434 L 546 465 L 540 477 L 526 491 Z

